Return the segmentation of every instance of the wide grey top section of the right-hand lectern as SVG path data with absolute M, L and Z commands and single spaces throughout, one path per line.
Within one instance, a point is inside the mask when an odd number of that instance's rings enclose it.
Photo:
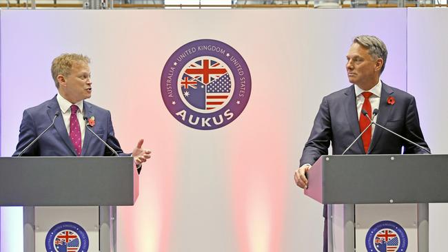
M 448 155 L 321 156 L 305 195 L 322 204 L 448 202 L 447 178 Z

